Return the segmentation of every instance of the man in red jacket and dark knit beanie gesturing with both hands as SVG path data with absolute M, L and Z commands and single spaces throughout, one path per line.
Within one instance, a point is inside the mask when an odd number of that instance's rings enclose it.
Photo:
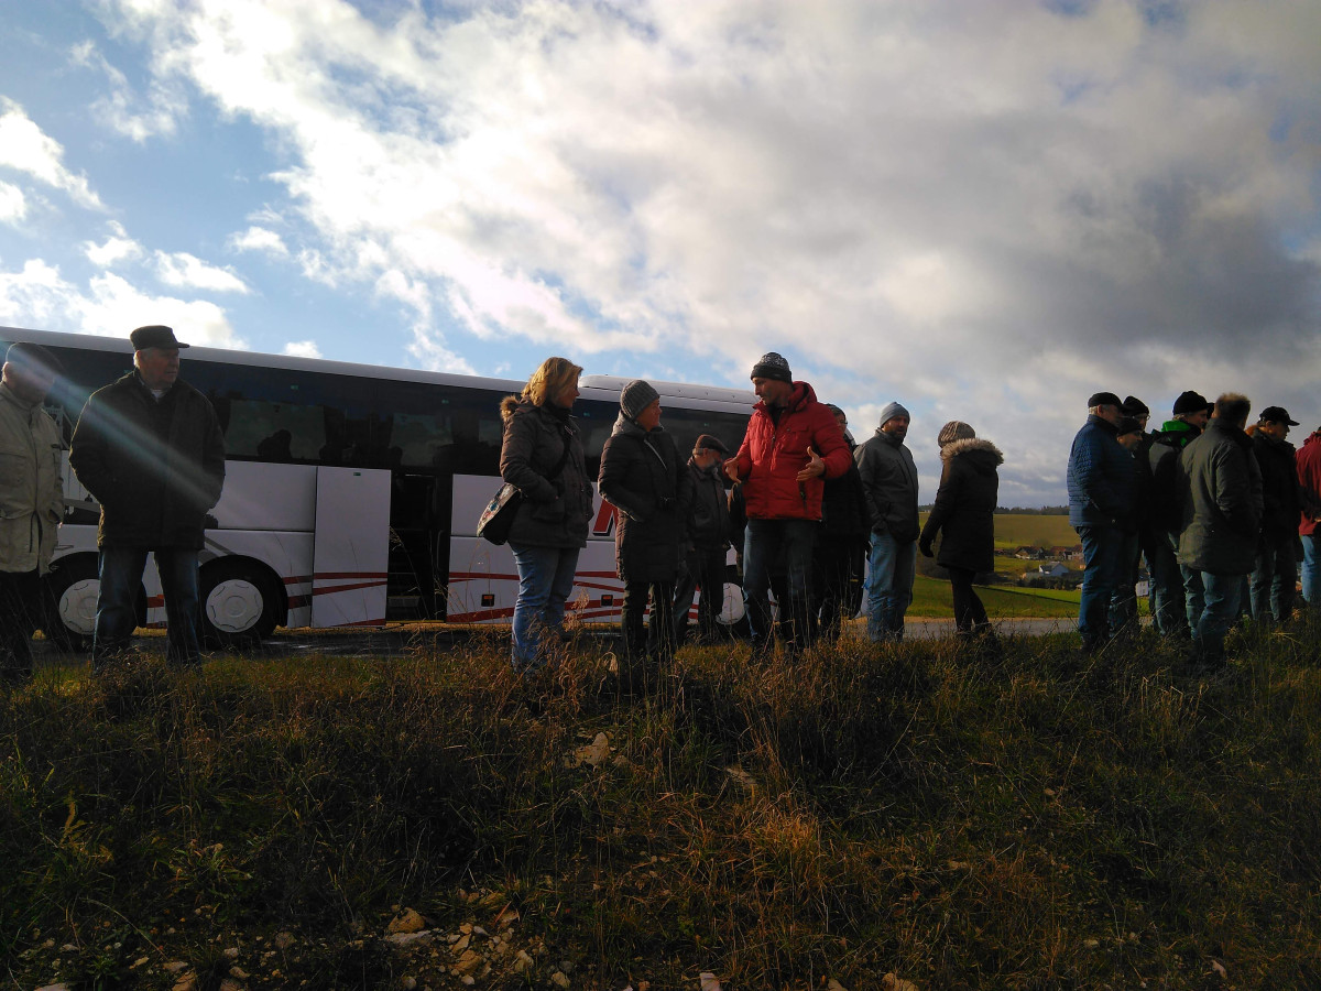
M 794 382 L 789 362 L 775 351 L 752 369 L 753 390 L 761 396 L 748 422 L 744 441 L 725 472 L 742 482 L 748 509 L 744 538 L 744 605 L 753 654 L 771 645 L 770 575 L 783 564 L 789 580 L 787 606 L 793 638 L 785 650 L 807 646 L 808 576 L 812 543 L 822 518 L 826 478 L 848 470 L 852 456 L 830 407 L 816 402 L 806 382 Z

